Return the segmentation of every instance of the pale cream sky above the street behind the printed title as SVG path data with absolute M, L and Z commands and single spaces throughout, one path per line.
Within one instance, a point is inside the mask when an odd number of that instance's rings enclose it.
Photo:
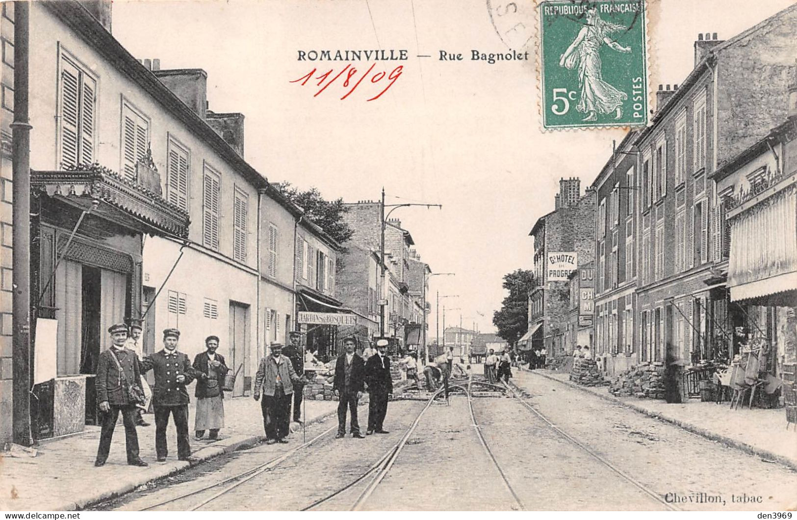
M 651 97 L 658 84 L 689 74 L 697 33 L 727 39 L 791 3 L 647 2 Z M 391 215 L 432 272 L 456 273 L 430 279 L 431 339 L 438 292 L 450 295 L 441 299 L 446 325 L 461 316 L 463 326 L 494 330 L 502 277 L 533 268 L 528 233 L 553 209 L 559 178 L 581 178 L 583 191 L 624 135 L 541 131 L 536 18 L 530 0 L 515 5 L 511 22 L 522 25 L 507 34 L 509 18 L 498 16 L 509 7 L 503 0 L 115 0 L 112 33 L 133 56 L 159 58 L 161 68 L 204 69 L 210 110 L 245 115 L 245 159 L 270 182 L 316 186 L 344 201 L 377 200 L 384 188 L 387 204 L 442 205 Z M 529 60 L 469 60 L 473 49 L 506 53 L 508 45 Z M 315 68 L 314 77 L 330 69 L 332 77 L 349 63 L 298 59 L 322 49 L 406 49 L 409 59 L 352 62 L 358 72 L 349 88 L 341 76 L 314 96 L 318 80 L 303 85 L 304 76 Z M 440 51 L 464 59 L 440 61 Z M 389 76 L 391 87 L 369 101 Z

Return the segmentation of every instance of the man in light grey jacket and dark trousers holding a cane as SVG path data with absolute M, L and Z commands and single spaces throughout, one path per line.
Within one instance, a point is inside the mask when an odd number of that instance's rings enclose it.
M 260 401 L 263 391 L 263 429 L 265 444 L 287 443 L 293 383 L 299 377 L 288 358 L 282 355 L 282 343 L 272 343 L 271 354 L 260 360 L 254 378 L 254 400 Z

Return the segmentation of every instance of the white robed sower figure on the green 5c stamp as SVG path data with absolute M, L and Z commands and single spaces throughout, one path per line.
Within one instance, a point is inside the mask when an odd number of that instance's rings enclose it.
M 587 114 L 583 121 L 597 121 L 598 113 L 615 112 L 614 119 L 622 117 L 622 102 L 628 99 L 628 94 L 603 81 L 599 50 L 601 45 L 606 44 L 618 53 L 630 53 L 630 47 L 623 47 L 607 36 L 624 29 L 624 25 L 602 20 L 598 10 L 593 7 L 587 11 L 587 24 L 559 57 L 560 67 L 579 69 L 581 97 L 575 109 Z

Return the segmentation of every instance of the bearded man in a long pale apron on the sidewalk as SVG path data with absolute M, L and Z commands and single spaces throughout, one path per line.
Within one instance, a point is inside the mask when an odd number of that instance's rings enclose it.
M 218 354 L 218 336 L 205 338 L 206 351 L 194 358 L 197 387 L 194 396 L 197 398 L 197 416 L 194 421 L 196 439 L 202 439 L 205 430 L 210 430 L 208 440 L 218 439 L 218 431 L 224 428 L 224 377 L 230 368 L 224 356 Z

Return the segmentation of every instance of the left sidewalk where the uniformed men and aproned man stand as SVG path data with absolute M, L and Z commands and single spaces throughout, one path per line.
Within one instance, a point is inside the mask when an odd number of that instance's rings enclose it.
M 191 401 L 196 401 L 193 397 Z M 335 412 L 336 401 L 304 401 L 306 422 L 321 420 Z M 242 446 L 257 443 L 263 436 L 261 405 L 252 397 L 225 400 L 226 428 L 221 439 L 194 440 L 194 409 L 189 405 L 189 425 L 192 456 L 206 460 L 233 452 Z M 2 457 L 0 459 L 0 510 L 60 511 L 77 510 L 90 503 L 121 495 L 151 480 L 162 479 L 190 467 L 177 460 L 175 427 L 169 425 L 167 440 L 169 458 L 165 463 L 155 461 L 155 419 L 144 415 L 151 426 L 139 427 L 141 458 L 149 467 L 127 465 L 124 450 L 124 426 L 116 424 L 111 455 L 104 467 L 94 467 L 100 427 L 87 426 L 84 432 L 63 439 L 45 441 L 37 448 L 37 455 Z M 207 436 L 207 433 L 205 434 Z M 293 447 L 301 435 L 290 436 Z

